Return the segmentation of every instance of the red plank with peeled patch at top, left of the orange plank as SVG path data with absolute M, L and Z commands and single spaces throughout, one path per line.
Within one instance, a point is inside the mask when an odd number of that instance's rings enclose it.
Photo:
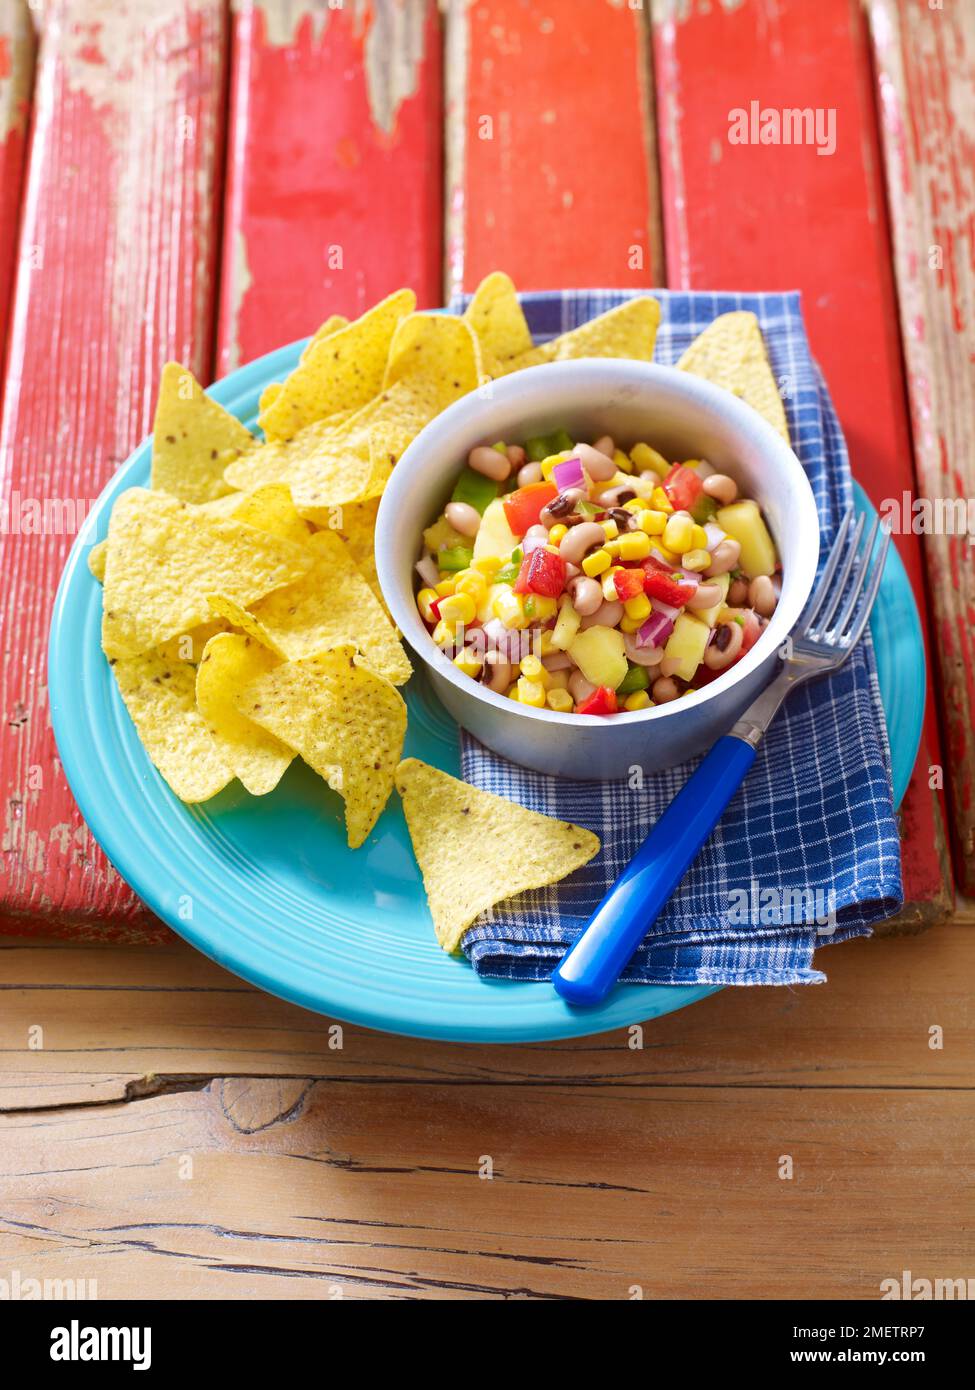
M 218 374 L 401 285 L 441 299 L 437 0 L 241 0 Z

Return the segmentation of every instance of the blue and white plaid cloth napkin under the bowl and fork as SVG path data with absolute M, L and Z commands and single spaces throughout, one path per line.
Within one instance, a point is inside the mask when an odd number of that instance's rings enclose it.
M 662 307 L 655 360 L 673 363 L 718 316 L 758 316 L 786 400 L 796 453 L 812 484 L 826 542 L 851 500 L 833 404 L 809 356 L 800 296 L 654 291 Z M 629 297 L 613 291 L 523 296 L 535 339 L 574 328 Z M 463 307 L 458 299 L 452 309 Z M 652 441 L 651 441 L 652 442 Z M 636 853 L 694 763 L 647 778 L 569 781 L 529 771 L 462 735 L 474 787 L 594 830 L 602 849 L 551 888 L 508 899 L 472 927 L 463 949 L 478 974 L 548 979 Z M 641 984 L 811 984 L 818 945 L 868 935 L 901 902 L 890 758 L 869 639 L 843 670 L 793 694 L 716 833 L 637 951 L 623 979 Z

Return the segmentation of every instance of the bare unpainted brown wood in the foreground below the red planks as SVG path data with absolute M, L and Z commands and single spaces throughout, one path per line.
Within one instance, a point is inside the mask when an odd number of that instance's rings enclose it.
M 184 948 L 10 942 L 0 1264 L 100 1298 L 876 1300 L 903 1269 L 965 1276 L 974 941 L 850 942 L 828 986 L 726 990 L 643 1051 L 353 1029 L 334 1051 Z

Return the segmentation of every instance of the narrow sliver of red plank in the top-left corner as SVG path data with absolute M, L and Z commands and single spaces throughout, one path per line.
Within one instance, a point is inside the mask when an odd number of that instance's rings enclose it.
M 0 0 L 0 360 L 21 220 L 33 49 L 26 0 Z

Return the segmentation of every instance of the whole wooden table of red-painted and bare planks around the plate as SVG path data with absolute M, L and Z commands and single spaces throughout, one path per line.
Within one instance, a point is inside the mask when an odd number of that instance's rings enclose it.
M 72 528 L 10 518 L 97 495 L 167 357 L 210 379 L 495 265 L 798 286 L 873 502 L 975 495 L 974 71 L 969 0 L 0 0 L 0 1277 L 875 1298 L 971 1273 L 962 538 L 897 537 L 936 641 L 894 935 L 823 952 L 823 987 L 477 1048 L 303 1013 L 146 915 L 47 720 Z M 751 100 L 832 110 L 836 149 L 732 147 Z

